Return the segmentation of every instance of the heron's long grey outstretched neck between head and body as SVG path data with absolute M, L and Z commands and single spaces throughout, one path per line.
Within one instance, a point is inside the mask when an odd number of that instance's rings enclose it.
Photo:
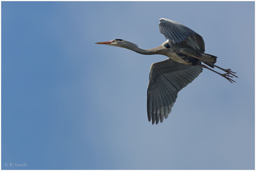
M 135 44 L 128 42 L 128 43 L 126 43 L 126 44 L 124 44 L 123 46 L 120 46 L 120 47 L 123 47 L 123 48 L 126 48 L 126 49 L 130 49 L 130 50 L 132 50 L 134 52 L 137 52 L 137 53 L 140 53 L 140 54 L 143 54 L 143 55 L 160 54 L 159 53 L 160 46 L 152 48 L 152 49 L 144 50 L 144 49 L 139 48 Z

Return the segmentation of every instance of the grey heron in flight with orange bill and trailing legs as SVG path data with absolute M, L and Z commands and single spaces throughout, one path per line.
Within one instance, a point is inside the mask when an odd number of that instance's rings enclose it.
M 152 125 L 154 123 L 157 125 L 159 121 L 162 123 L 164 118 L 168 117 L 178 92 L 191 83 L 202 72 L 203 68 L 221 75 L 231 83 L 235 81 L 230 77 L 237 77 L 234 75 L 236 72 L 231 71 L 231 69 L 216 66 L 216 56 L 204 53 L 204 40 L 195 31 L 165 18 L 160 19 L 158 26 L 160 33 L 168 40 L 152 49 L 144 50 L 138 45 L 122 39 L 95 43 L 123 47 L 143 55 L 160 54 L 168 57 L 166 60 L 153 63 L 150 68 L 147 116 L 149 122 L 152 119 Z M 219 68 L 226 73 L 221 74 L 208 66 Z

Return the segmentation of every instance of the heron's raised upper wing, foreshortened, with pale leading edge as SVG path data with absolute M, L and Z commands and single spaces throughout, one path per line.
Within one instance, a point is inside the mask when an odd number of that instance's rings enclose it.
M 205 42 L 203 38 L 193 30 L 176 21 L 161 18 L 159 23 L 159 31 L 165 36 L 166 39 L 169 39 L 170 42 L 173 41 L 174 44 L 185 41 L 197 52 L 205 52 Z

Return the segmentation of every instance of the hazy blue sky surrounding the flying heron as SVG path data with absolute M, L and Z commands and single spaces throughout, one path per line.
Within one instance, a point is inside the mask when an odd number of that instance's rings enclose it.
M 255 169 L 254 4 L 2 2 L 2 169 Z M 149 71 L 167 57 L 94 43 L 157 47 L 160 18 L 239 78 L 204 69 L 152 125 Z

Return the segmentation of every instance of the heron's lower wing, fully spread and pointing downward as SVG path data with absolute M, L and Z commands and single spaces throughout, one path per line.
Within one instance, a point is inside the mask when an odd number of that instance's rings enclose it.
M 201 66 L 184 65 L 170 58 L 152 64 L 147 88 L 147 116 L 162 123 L 172 111 L 178 92 L 201 72 Z

